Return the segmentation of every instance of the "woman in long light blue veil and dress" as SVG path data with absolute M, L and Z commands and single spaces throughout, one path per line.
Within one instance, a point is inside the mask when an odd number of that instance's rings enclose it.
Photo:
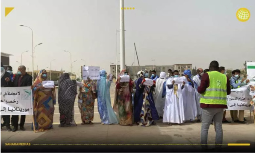
M 106 75 L 105 70 L 100 70 L 100 80 L 97 82 L 97 102 L 100 114 L 101 124 L 118 124 L 118 119 L 111 106 L 109 88 L 112 83 L 112 77 Z

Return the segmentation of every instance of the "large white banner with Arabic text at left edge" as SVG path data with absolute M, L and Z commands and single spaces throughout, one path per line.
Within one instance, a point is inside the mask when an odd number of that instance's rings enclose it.
M 1 88 L 1 115 L 33 115 L 31 87 Z

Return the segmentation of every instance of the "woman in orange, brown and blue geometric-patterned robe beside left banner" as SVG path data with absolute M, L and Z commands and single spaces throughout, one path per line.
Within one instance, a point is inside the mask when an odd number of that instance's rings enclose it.
M 33 111 L 36 131 L 53 128 L 54 105 L 56 93 L 54 88 L 44 88 L 42 82 L 47 80 L 46 70 L 41 70 L 33 84 Z M 33 129 L 32 124 L 32 129 Z

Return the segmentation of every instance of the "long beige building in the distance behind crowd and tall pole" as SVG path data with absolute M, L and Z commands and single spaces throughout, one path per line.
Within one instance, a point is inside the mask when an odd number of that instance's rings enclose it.
M 155 70 L 156 74 L 159 76 L 162 71 L 168 72 L 168 69 L 171 69 L 172 71 L 178 70 L 179 74 L 184 74 L 184 70 L 186 69 L 192 69 L 192 64 L 174 64 L 174 65 L 166 65 L 166 66 L 153 66 L 153 65 L 146 65 L 146 66 L 126 66 L 127 71 L 130 74 L 130 77 L 133 79 L 136 77 L 138 71 L 145 70 L 149 72 L 149 75 L 151 76 L 152 71 Z M 116 65 L 110 65 L 111 74 L 115 76 L 116 74 Z M 120 65 L 118 65 L 118 73 L 120 72 Z

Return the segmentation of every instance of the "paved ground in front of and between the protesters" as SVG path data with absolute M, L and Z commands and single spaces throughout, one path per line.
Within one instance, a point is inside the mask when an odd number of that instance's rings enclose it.
M 111 97 L 113 105 L 114 84 L 111 86 Z M 201 123 L 184 123 L 182 125 L 172 125 L 162 123 L 157 120 L 157 125 L 149 127 L 141 126 L 121 126 L 121 125 L 100 125 L 100 117 L 97 110 L 97 101 L 94 108 L 94 125 L 80 125 L 81 118 L 77 100 L 75 102 L 75 121 L 77 127 L 59 128 L 59 108 L 58 103 L 55 106 L 53 129 L 46 132 L 33 133 L 31 130 L 32 116 L 26 116 L 26 131 L 7 132 L 4 127 L 1 131 L 1 151 L 6 149 L 9 151 L 23 150 L 39 151 L 48 150 L 48 152 L 57 152 L 65 149 L 65 152 L 100 152 L 100 151 L 116 151 L 116 152 L 191 152 L 200 148 L 200 128 Z M 230 112 L 227 111 L 227 120 L 231 120 Z M 250 122 L 249 111 L 245 112 L 245 116 Z M 231 147 L 229 151 L 238 152 L 238 150 L 248 151 L 249 148 L 255 146 L 255 124 L 243 125 L 237 123 L 223 124 L 223 143 L 250 143 L 250 147 Z M 208 143 L 215 143 L 215 130 L 211 125 L 209 129 Z M 32 146 L 5 146 L 5 143 L 31 143 Z M 36 146 L 35 144 L 83 144 L 83 145 L 52 145 L 52 146 Z M 87 145 L 87 144 L 165 144 L 165 145 Z M 168 144 L 168 145 L 166 145 Z M 170 145 L 169 145 L 170 144 Z M 189 145 L 176 145 L 189 144 Z M 214 146 L 210 146 L 213 148 Z M 227 145 L 224 145 L 228 148 Z M 76 150 L 73 150 L 73 149 Z M 178 149 L 178 150 L 177 150 Z M 38 152 L 39 152 L 38 151 Z M 255 149 L 254 149 L 255 151 Z M 254 152 L 252 151 L 252 152 Z M 15 151 L 14 151 L 15 152 Z

